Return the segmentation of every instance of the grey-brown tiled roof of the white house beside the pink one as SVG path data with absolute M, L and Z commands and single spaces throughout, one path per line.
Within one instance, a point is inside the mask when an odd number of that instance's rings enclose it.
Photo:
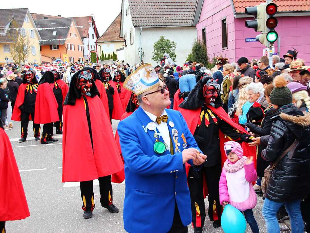
M 192 26 L 197 0 L 129 0 L 134 27 Z

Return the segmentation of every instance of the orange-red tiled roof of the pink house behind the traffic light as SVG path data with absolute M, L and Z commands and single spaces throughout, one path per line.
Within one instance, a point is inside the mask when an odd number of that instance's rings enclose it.
M 236 13 L 244 13 L 245 7 L 254 7 L 255 5 L 259 5 L 260 3 L 264 3 L 266 1 L 258 1 L 258 0 L 232 0 L 235 12 Z M 274 0 L 273 3 L 277 4 L 278 12 L 283 11 L 310 11 L 310 0 Z

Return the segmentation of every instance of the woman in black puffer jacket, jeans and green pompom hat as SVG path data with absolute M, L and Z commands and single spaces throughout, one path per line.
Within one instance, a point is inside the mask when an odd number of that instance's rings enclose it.
M 279 77 L 279 78 L 278 78 Z M 295 140 L 298 144 L 272 170 L 266 190 L 262 214 L 268 233 L 280 233 L 277 211 L 285 204 L 291 220 L 292 232 L 303 232 L 300 202 L 310 191 L 310 113 L 303 114 L 292 104 L 292 94 L 286 87 L 286 80 L 278 76 L 270 102 L 277 110 L 269 136 L 260 138 L 267 144 L 262 158 L 275 162 Z

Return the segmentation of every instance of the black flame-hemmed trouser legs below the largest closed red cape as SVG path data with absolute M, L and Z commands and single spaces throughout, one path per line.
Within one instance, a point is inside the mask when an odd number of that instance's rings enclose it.
M 102 206 L 113 204 L 113 190 L 111 184 L 111 175 L 99 177 L 100 203 Z M 82 209 L 93 210 L 95 208 L 95 197 L 93 191 L 93 180 L 81 181 L 81 197 L 83 201 Z

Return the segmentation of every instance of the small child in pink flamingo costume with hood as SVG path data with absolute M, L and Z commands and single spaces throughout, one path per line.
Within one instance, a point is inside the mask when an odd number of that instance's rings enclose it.
M 253 157 L 243 156 L 239 143 L 228 141 L 224 143 L 227 160 L 224 162 L 219 180 L 219 201 L 221 205 L 230 204 L 243 211 L 246 222 L 253 233 L 259 233 L 257 222 L 253 216 L 257 198 L 251 182 L 257 179 Z

